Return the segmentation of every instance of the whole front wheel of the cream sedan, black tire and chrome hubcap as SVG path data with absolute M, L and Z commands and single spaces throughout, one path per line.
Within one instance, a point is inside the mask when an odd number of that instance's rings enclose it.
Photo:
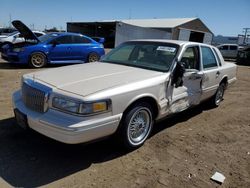
M 118 138 L 129 150 L 139 148 L 151 133 L 154 120 L 152 108 L 147 103 L 138 103 L 125 113 L 121 120 Z

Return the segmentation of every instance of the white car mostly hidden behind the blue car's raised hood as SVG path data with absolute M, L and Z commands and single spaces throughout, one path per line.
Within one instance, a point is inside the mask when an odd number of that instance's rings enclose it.
M 40 37 L 42 35 L 45 35 L 42 31 L 32 31 L 37 37 Z M 15 31 L 13 33 L 10 33 L 6 36 L 0 36 L 0 47 L 2 47 L 5 44 L 16 44 L 24 42 L 25 38 L 22 36 L 22 34 L 18 31 Z

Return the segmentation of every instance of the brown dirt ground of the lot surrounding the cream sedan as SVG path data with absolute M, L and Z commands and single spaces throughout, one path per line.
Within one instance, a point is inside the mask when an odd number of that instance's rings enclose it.
M 31 71 L 0 63 L 0 187 L 250 187 L 250 67 L 238 67 L 220 107 L 156 124 L 130 153 L 112 139 L 65 145 L 16 126 L 11 94 Z M 222 185 L 210 180 L 216 171 Z

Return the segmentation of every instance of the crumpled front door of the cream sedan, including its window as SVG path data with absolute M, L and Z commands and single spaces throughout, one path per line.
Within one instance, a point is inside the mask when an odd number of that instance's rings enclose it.
M 170 112 L 180 112 L 201 101 L 203 72 L 200 67 L 200 52 L 198 46 L 187 47 L 181 55 L 181 63 L 186 72 L 183 76 L 183 85 L 175 88 L 170 86 Z

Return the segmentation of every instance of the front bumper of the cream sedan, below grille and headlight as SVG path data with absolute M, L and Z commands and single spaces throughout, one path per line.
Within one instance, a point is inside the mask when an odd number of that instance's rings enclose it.
M 92 141 L 113 134 L 120 123 L 122 114 L 85 118 L 65 114 L 53 109 L 38 113 L 28 109 L 21 99 L 21 92 L 12 96 L 13 107 L 27 115 L 31 129 L 57 141 L 77 144 Z

